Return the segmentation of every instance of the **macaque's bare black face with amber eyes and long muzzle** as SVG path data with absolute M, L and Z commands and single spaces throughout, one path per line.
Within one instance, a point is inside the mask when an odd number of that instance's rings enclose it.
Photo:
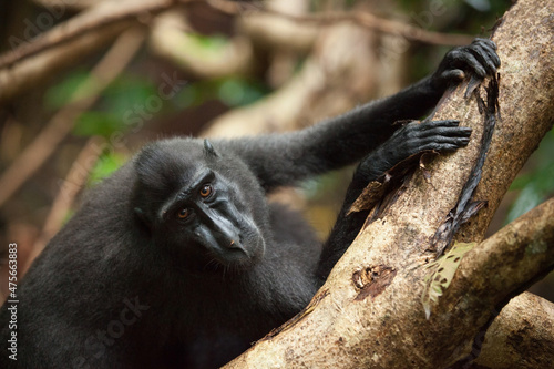
M 237 189 L 229 178 L 203 167 L 162 207 L 161 238 L 170 247 L 181 249 L 177 254 L 199 264 L 254 263 L 264 254 L 265 242 Z

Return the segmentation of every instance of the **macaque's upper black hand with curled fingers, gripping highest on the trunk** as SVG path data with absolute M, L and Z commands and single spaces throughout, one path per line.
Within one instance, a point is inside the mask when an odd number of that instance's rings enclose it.
M 442 93 L 449 86 L 462 82 L 466 75 L 474 81 L 482 81 L 496 73 L 497 68 L 500 58 L 496 44 L 489 39 L 475 39 L 470 45 L 454 48 L 444 55 L 431 75 L 431 88 Z

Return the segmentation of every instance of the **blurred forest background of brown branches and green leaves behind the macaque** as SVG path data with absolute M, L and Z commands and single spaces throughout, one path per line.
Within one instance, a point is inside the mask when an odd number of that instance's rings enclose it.
M 21 276 L 83 191 L 152 140 L 297 130 L 394 93 L 506 0 L 0 1 L 0 280 Z M 554 194 L 550 132 L 494 233 Z M 351 168 L 274 194 L 321 239 Z M 494 273 L 493 270 L 491 273 Z M 8 291 L 0 284 L 0 298 Z M 532 287 L 554 301 L 554 275 Z

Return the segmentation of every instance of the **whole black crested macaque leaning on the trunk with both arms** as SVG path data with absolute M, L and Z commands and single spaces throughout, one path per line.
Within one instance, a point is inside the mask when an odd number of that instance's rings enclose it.
M 495 44 L 476 39 L 396 95 L 298 132 L 147 145 L 89 193 L 23 277 L 19 303 L 3 305 L 0 367 L 229 361 L 308 304 L 362 226 L 365 214 L 346 211 L 369 181 L 412 154 L 465 146 L 471 133 L 453 120 L 393 123 L 499 65 Z M 322 246 L 298 214 L 266 199 L 360 160 Z

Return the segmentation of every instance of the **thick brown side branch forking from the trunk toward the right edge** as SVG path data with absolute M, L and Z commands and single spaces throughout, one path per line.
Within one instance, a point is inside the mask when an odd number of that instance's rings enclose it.
M 449 293 L 496 306 L 554 268 L 554 198 L 522 215 L 462 259 Z M 494 278 L 491 278 L 494 270 Z M 450 295 L 449 295 L 450 296 Z M 510 296 L 511 297 L 511 296 Z

